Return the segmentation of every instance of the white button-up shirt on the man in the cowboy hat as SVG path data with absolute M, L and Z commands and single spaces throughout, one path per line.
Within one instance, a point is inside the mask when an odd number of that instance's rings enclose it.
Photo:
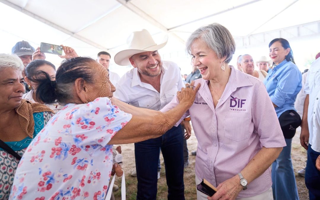
M 185 87 L 180 68 L 174 62 L 162 61 L 160 76 L 159 93 L 152 85 L 141 82 L 137 68 L 133 68 L 120 78 L 114 96 L 135 107 L 160 110 Z

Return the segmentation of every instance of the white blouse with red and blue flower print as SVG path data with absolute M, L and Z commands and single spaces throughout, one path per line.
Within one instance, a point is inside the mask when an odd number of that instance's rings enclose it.
M 131 118 L 107 97 L 67 104 L 22 156 L 9 199 L 104 199 L 112 169 L 108 142 Z

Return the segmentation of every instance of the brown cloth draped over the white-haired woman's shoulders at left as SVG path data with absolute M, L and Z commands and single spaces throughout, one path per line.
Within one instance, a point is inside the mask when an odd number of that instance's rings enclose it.
M 35 121 L 33 119 L 33 113 L 40 112 L 52 112 L 50 108 L 41 103 L 31 103 L 28 100 L 21 100 L 20 106 L 15 108 L 16 113 L 19 115 L 19 122 L 21 128 L 30 138 L 33 138 L 33 132 L 35 130 Z

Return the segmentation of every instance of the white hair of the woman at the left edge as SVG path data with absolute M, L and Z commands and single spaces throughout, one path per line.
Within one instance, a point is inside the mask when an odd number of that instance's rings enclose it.
M 0 53 L 0 71 L 5 68 L 18 69 L 22 71 L 24 66 L 22 60 L 17 55 Z

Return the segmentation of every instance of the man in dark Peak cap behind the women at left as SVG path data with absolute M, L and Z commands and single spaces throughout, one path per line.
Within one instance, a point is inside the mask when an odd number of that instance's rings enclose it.
M 19 58 L 22 60 L 24 67 L 26 67 L 32 61 L 33 52 L 35 52 L 35 48 L 23 40 L 21 42 L 17 42 L 17 44 L 15 44 L 11 49 L 11 53 L 19 56 Z M 24 78 L 24 76 L 24 71 L 22 71 L 22 77 Z M 24 84 L 26 92 L 29 92 L 30 90 L 27 83 Z

